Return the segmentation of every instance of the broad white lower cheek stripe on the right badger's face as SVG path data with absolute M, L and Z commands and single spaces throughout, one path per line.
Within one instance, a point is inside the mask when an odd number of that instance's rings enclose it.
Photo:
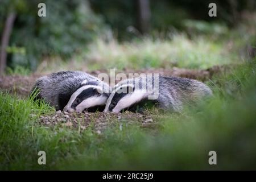
M 127 94 L 125 97 L 121 98 L 121 100 L 117 103 L 112 111 L 113 113 L 119 113 L 122 109 L 126 109 L 127 107 L 141 101 L 147 96 L 148 93 L 146 90 L 134 90 L 132 94 Z

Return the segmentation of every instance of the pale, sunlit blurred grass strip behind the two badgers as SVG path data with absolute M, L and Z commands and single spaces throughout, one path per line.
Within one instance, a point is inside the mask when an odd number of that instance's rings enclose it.
M 185 34 L 167 39 L 144 38 L 141 41 L 118 44 L 114 39 L 98 39 L 89 46 L 85 60 L 90 64 L 108 65 L 109 68 L 199 68 L 236 62 L 225 44 L 208 38 L 189 39 Z M 225 59 L 223 58 L 225 57 Z

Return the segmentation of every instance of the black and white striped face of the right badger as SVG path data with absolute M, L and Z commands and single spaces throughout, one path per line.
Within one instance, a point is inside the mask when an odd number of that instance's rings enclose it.
M 147 98 L 147 96 L 148 94 L 146 90 L 135 90 L 131 85 L 122 85 L 110 94 L 104 111 L 119 113 L 120 111 L 126 110 L 129 107 L 143 101 Z

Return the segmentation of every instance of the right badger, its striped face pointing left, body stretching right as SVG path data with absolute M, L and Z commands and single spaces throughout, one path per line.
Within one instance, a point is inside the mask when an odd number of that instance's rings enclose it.
M 104 111 L 142 111 L 145 105 L 156 105 L 180 112 L 184 105 L 196 104 L 209 96 L 212 96 L 212 90 L 200 81 L 158 75 L 140 76 L 118 82 L 112 89 Z

